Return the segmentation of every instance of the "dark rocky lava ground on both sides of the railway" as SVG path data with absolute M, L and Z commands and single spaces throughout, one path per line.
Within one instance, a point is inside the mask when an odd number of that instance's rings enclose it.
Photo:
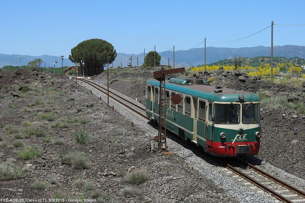
M 109 87 L 144 103 L 145 83 L 155 70 L 158 69 L 110 69 Z M 213 77 L 213 85 L 258 92 L 267 98 L 280 96 L 288 100 L 295 95 L 299 102 L 304 102 L 303 86 L 269 83 L 239 71 L 186 75 L 206 80 Z M 105 76 L 106 73 L 95 76 L 94 80 L 106 84 Z M 27 93 L 22 93 L 24 85 L 30 87 Z M 0 86 L 1 198 L 65 196 L 101 202 L 238 202 L 179 156 L 151 152 L 150 143 L 142 139 L 145 131 L 132 127 L 127 118 L 71 80 L 62 80 L 58 74 L 20 69 L 0 71 Z M 264 120 L 257 157 L 304 178 L 305 115 L 298 109 L 270 104 L 266 102 L 261 108 Z M 42 117 L 45 113 L 51 113 L 53 119 Z M 87 144 L 76 142 L 74 135 L 81 132 L 90 135 Z M 18 152 L 25 146 L 32 146 L 40 154 L 22 159 Z M 84 169 L 63 162 L 69 152 L 85 157 Z M 132 166 L 147 173 L 144 183 L 134 185 L 121 177 Z M 5 169 L 11 171 L 8 178 L 1 173 Z M 124 193 L 127 187 L 140 194 L 128 196 Z

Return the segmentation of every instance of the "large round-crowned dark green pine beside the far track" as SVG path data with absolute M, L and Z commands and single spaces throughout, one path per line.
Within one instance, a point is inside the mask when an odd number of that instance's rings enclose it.
M 110 64 L 117 57 L 112 44 L 102 39 L 91 39 L 85 40 L 71 49 L 69 59 L 73 63 L 83 60 L 85 75 L 98 75 L 104 71 L 104 64 L 107 64 L 107 53 L 108 63 Z

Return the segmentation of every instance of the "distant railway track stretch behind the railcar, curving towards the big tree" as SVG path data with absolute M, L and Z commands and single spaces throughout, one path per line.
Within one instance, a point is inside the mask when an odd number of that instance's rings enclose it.
M 75 79 L 75 77 L 73 78 Z M 91 80 L 87 80 L 87 79 L 80 79 L 77 78 L 77 80 L 87 83 L 88 85 L 94 87 L 95 89 L 99 90 L 100 92 L 108 95 L 107 89 L 104 88 L 103 86 L 91 81 Z M 145 119 L 151 121 L 151 119 L 149 117 L 147 117 L 146 114 L 146 109 L 138 106 L 137 104 L 124 99 L 123 97 L 117 95 L 116 93 L 113 93 L 112 91 L 109 91 L 109 97 L 112 98 L 113 100 L 119 102 L 120 104 L 126 106 L 127 108 L 129 108 L 130 110 L 134 111 L 135 113 L 139 114 L 140 116 L 144 117 Z

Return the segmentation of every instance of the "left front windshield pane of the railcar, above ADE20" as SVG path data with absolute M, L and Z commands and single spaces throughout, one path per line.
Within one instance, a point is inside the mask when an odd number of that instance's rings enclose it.
M 222 124 L 240 123 L 240 104 L 214 104 L 214 122 Z

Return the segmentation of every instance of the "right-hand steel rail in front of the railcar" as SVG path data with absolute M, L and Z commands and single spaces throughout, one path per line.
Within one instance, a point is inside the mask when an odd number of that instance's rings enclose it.
M 257 168 L 256 166 L 253 166 L 252 164 L 246 162 L 245 160 L 240 159 L 239 157 L 236 157 L 236 158 L 238 158 L 239 161 L 242 162 L 244 165 L 249 166 L 249 168 L 257 171 L 258 173 L 262 174 L 263 176 L 273 180 L 274 182 L 277 182 L 278 184 L 283 185 L 284 187 L 288 188 L 289 190 L 291 190 L 291 191 L 295 192 L 296 194 L 298 194 L 298 195 L 300 195 L 300 196 L 305 198 L 305 192 L 304 191 L 301 191 L 300 189 L 298 189 L 296 187 L 293 187 L 292 185 L 284 182 L 283 180 L 280 180 L 277 177 L 274 177 L 273 175 L 271 175 L 271 174 L 269 174 L 269 173 L 267 173 L 267 172 Z

